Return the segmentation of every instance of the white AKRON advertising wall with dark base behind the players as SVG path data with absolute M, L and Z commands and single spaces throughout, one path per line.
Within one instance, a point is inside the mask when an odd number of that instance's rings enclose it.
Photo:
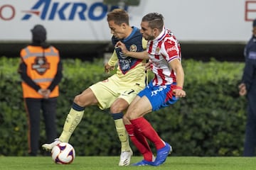
M 103 0 L 1 0 L 0 56 L 18 56 L 31 40 L 31 28 L 43 24 L 48 42 L 57 46 L 63 57 L 101 57 L 112 50 L 106 15 L 117 7 Z M 183 57 L 198 60 L 243 60 L 251 21 L 256 18 L 255 0 L 140 0 L 139 6 L 124 8 L 130 25 L 137 27 L 146 13 L 162 13 L 166 27 L 181 42 Z

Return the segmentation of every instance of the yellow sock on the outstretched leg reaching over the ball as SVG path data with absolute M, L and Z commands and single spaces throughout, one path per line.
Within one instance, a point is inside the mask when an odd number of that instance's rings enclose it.
M 70 109 L 70 112 L 68 113 L 65 124 L 63 126 L 63 132 L 59 137 L 61 142 L 68 142 L 70 140 L 70 137 L 73 134 L 75 128 L 82 120 L 83 113 L 84 111 L 75 111 L 73 108 Z

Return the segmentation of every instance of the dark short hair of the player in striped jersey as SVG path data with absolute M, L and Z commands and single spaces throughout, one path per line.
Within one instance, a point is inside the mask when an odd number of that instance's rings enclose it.
M 142 22 L 148 22 L 149 28 L 162 30 L 164 27 L 164 16 L 161 13 L 148 13 L 142 18 Z

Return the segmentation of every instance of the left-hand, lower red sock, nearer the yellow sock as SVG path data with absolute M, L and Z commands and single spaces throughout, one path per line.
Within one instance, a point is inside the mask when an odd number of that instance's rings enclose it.
M 137 147 L 139 152 L 143 155 L 144 160 L 149 162 L 153 161 L 153 153 L 151 152 L 151 149 L 149 147 L 148 142 L 146 141 L 146 138 L 141 133 L 135 132 L 133 125 L 125 125 L 125 128 L 135 147 Z

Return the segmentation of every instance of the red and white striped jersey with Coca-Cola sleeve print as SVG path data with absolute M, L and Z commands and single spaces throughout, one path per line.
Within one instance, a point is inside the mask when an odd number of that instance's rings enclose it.
M 164 28 L 157 38 L 148 41 L 146 50 L 155 74 L 153 85 L 164 86 L 176 82 L 176 74 L 169 62 L 181 60 L 181 47 L 171 30 Z

